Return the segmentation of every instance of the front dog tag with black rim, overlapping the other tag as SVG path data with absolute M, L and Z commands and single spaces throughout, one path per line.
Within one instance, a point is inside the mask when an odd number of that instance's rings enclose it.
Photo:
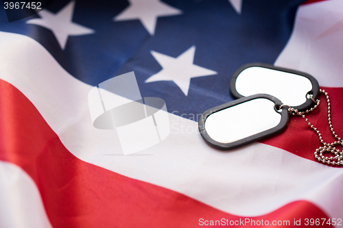
M 204 112 L 199 131 L 212 147 L 235 149 L 283 131 L 288 123 L 287 107 L 269 94 L 243 97 Z M 279 110 L 279 111 L 278 111 Z

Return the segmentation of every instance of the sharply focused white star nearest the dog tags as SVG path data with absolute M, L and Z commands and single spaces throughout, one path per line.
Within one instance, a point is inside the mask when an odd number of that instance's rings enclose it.
M 196 53 L 195 46 L 192 46 L 177 58 L 163 55 L 156 51 L 150 51 L 150 53 L 152 53 L 163 69 L 146 79 L 145 83 L 152 81 L 174 81 L 186 96 L 192 77 L 217 74 L 215 71 L 193 64 L 194 54 Z

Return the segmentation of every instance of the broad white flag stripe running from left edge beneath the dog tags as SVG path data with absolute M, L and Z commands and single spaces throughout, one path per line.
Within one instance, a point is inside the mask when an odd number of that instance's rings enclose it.
M 198 123 L 174 114 L 169 114 L 171 134 L 163 142 L 141 154 L 122 156 L 113 131 L 92 125 L 87 94 L 93 86 L 69 75 L 26 36 L 1 32 L 0 49 L 0 77 L 21 90 L 65 147 L 85 162 L 181 192 L 231 214 L 257 216 L 307 199 L 334 218 L 343 217 L 342 169 L 260 143 L 217 151 L 204 143 Z

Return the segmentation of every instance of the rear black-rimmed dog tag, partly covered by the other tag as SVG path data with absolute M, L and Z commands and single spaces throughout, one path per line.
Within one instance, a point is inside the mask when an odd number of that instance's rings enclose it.
M 305 111 L 314 105 L 319 94 L 319 84 L 307 73 L 257 63 L 246 64 L 235 72 L 230 91 L 235 98 L 270 94 L 285 105 Z

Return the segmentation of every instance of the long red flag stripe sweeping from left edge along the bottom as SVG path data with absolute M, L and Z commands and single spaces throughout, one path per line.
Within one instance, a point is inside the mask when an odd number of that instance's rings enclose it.
M 32 177 L 54 227 L 198 227 L 200 218 L 242 218 L 82 162 L 67 151 L 36 107 L 2 80 L 0 116 L 0 160 Z M 294 218 L 304 222 L 327 216 L 312 203 L 296 201 L 254 219 L 289 220 L 293 225 Z

